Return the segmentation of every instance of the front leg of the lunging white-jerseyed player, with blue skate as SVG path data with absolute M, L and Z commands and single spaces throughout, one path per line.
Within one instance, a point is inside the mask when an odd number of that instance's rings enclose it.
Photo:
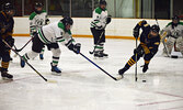
M 58 43 L 48 44 L 47 47 L 48 47 L 48 51 L 52 51 L 53 53 L 53 61 L 50 63 L 53 74 L 61 75 L 61 69 L 57 67 L 59 63 L 59 57 L 61 54 Z

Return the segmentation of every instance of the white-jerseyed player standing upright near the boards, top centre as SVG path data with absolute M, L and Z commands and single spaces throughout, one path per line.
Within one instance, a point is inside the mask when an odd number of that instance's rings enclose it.
M 106 10 L 106 1 L 101 0 L 100 7 L 93 11 L 91 21 L 91 32 L 94 38 L 94 57 L 106 57 L 104 53 L 105 26 L 111 22 L 111 15 Z

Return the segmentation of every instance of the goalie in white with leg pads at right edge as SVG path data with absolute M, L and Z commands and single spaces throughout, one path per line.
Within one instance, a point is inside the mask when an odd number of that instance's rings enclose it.
M 180 22 L 178 15 L 161 31 L 161 36 L 164 44 L 163 54 L 170 56 L 173 47 L 183 54 L 183 22 Z

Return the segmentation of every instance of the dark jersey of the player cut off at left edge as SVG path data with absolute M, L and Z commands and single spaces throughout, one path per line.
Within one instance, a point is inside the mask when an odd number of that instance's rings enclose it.
M 8 15 L 1 11 L 0 12 L 0 37 L 5 38 L 8 36 L 12 36 L 14 28 L 13 18 L 8 18 Z

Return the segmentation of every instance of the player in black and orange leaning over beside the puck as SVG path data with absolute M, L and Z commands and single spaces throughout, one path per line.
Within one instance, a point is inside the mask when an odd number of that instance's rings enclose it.
M 140 35 L 140 44 L 138 45 L 137 48 L 134 50 L 134 55 L 126 63 L 125 67 L 118 70 L 118 74 L 121 75 L 122 78 L 124 73 L 128 70 L 136 63 L 136 61 L 138 62 L 140 57 L 144 57 L 145 59 L 142 73 L 146 73 L 149 68 L 148 66 L 151 58 L 158 52 L 158 47 L 160 44 L 160 35 L 159 35 L 160 28 L 158 25 L 150 26 L 149 24 L 147 24 L 146 21 L 140 21 L 134 29 L 134 36 L 136 38 L 138 38 L 139 36 L 140 29 L 142 29 L 142 33 Z

